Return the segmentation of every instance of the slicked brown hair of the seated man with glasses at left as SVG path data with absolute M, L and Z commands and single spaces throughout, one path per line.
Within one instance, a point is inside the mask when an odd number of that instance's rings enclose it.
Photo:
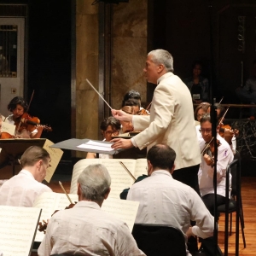
M 49 153 L 38 146 L 31 146 L 26 149 L 20 158 L 20 165 L 22 168 L 25 166 L 33 166 L 38 160 L 46 160 L 49 158 Z

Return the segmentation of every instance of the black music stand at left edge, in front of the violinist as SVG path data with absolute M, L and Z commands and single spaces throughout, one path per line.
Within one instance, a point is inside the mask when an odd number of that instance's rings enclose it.
M 31 146 L 44 147 L 45 140 L 46 138 L 11 138 L 0 140 L 0 148 L 2 148 L 0 153 L 0 170 L 10 163 L 13 169 L 13 176 L 15 176 L 15 164 L 17 164 L 20 156 L 26 151 L 26 148 Z

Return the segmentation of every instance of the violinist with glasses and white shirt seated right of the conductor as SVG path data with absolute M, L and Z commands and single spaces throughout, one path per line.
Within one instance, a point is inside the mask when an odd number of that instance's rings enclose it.
M 201 117 L 201 136 L 199 141 L 201 151 L 205 148 L 206 143 L 212 140 L 212 121 L 210 114 L 205 114 Z M 219 126 L 217 127 L 217 131 Z M 218 161 L 217 161 L 217 207 L 225 203 L 225 177 L 226 168 L 234 158 L 234 154 L 230 149 L 229 143 L 227 143 L 223 137 L 217 134 L 218 139 Z M 206 150 L 203 150 L 201 154 L 201 166 L 198 173 L 199 187 L 202 196 L 208 210 L 214 216 L 214 189 L 213 189 L 213 163 L 214 163 L 214 146 L 213 140 Z M 230 175 L 231 184 L 231 175 Z

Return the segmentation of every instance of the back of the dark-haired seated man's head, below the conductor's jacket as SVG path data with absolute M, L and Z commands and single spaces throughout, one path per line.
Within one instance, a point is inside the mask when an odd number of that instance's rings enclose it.
M 153 168 L 172 170 L 175 159 L 175 151 L 166 144 L 157 144 L 148 150 L 147 160 Z

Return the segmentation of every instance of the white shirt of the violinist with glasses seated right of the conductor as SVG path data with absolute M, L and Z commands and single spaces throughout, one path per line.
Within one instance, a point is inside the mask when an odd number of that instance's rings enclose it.
M 225 196 L 226 188 L 226 168 L 230 162 L 234 159 L 234 154 L 223 137 L 217 135 L 217 139 L 221 143 L 218 147 L 218 161 L 217 161 L 217 194 Z M 206 143 L 204 140 L 200 143 L 200 148 L 203 150 Z M 213 189 L 213 167 L 208 166 L 206 161 L 201 156 L 201 166 L 198 172 L 199 188 L 201 195 L 214 194 Z M 230 186 L 231 186 L 231 174 L 230 174 Z M 230 188 L 231 192 L 231 188 Z

